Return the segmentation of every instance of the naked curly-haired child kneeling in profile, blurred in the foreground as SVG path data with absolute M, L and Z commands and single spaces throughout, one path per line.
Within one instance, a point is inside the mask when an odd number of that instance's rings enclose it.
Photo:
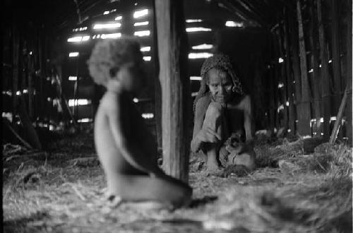
M 157 166 L 156 143 L 133 102 L 145 84 L 138 42 L 125 37 L 97 42 L 88 68 L 95 83 L 107 88 L 95 117 L 95 147 L 109 199 L 187 205 L 191 187 Z

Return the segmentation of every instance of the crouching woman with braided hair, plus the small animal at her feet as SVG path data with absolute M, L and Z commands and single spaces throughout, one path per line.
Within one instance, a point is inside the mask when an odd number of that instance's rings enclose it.
M 206 155 L 211 173 L 220 171 L 221 165 L 254 169 L 256 155 L 250 143 L 253 140 L 251 99 L 244 94 L 229 57 L 215 54 L 206 59 L 201 78 L 194 102 L 191 150 L 194 153 L 201 150 Z

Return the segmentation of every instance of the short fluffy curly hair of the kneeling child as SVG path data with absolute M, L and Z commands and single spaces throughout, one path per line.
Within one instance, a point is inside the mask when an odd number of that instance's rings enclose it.
M 142 53 L 140 44 L 132 37 L 102 40 L 95 44 L 90 59 L 88 70 L 95 83 L 106 85 L 107 81 L 119 70 L 122 64 L 134 61 L 141 63 Z

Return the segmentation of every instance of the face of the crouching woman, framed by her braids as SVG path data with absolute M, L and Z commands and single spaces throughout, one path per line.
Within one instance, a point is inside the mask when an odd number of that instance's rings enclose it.
M 213 99 L 220 103 L 227 102 L 232 97 L 232 79 L 229 74 L 217 68 L 208 71 L 208 88 Z

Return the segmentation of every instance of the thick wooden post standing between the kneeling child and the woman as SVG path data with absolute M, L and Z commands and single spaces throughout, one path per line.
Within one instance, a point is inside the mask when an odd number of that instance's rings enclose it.
M 167 174 L 189 179 L 189 78 L 183 1 L 155 0 L 162 87 L 163 167 Z

